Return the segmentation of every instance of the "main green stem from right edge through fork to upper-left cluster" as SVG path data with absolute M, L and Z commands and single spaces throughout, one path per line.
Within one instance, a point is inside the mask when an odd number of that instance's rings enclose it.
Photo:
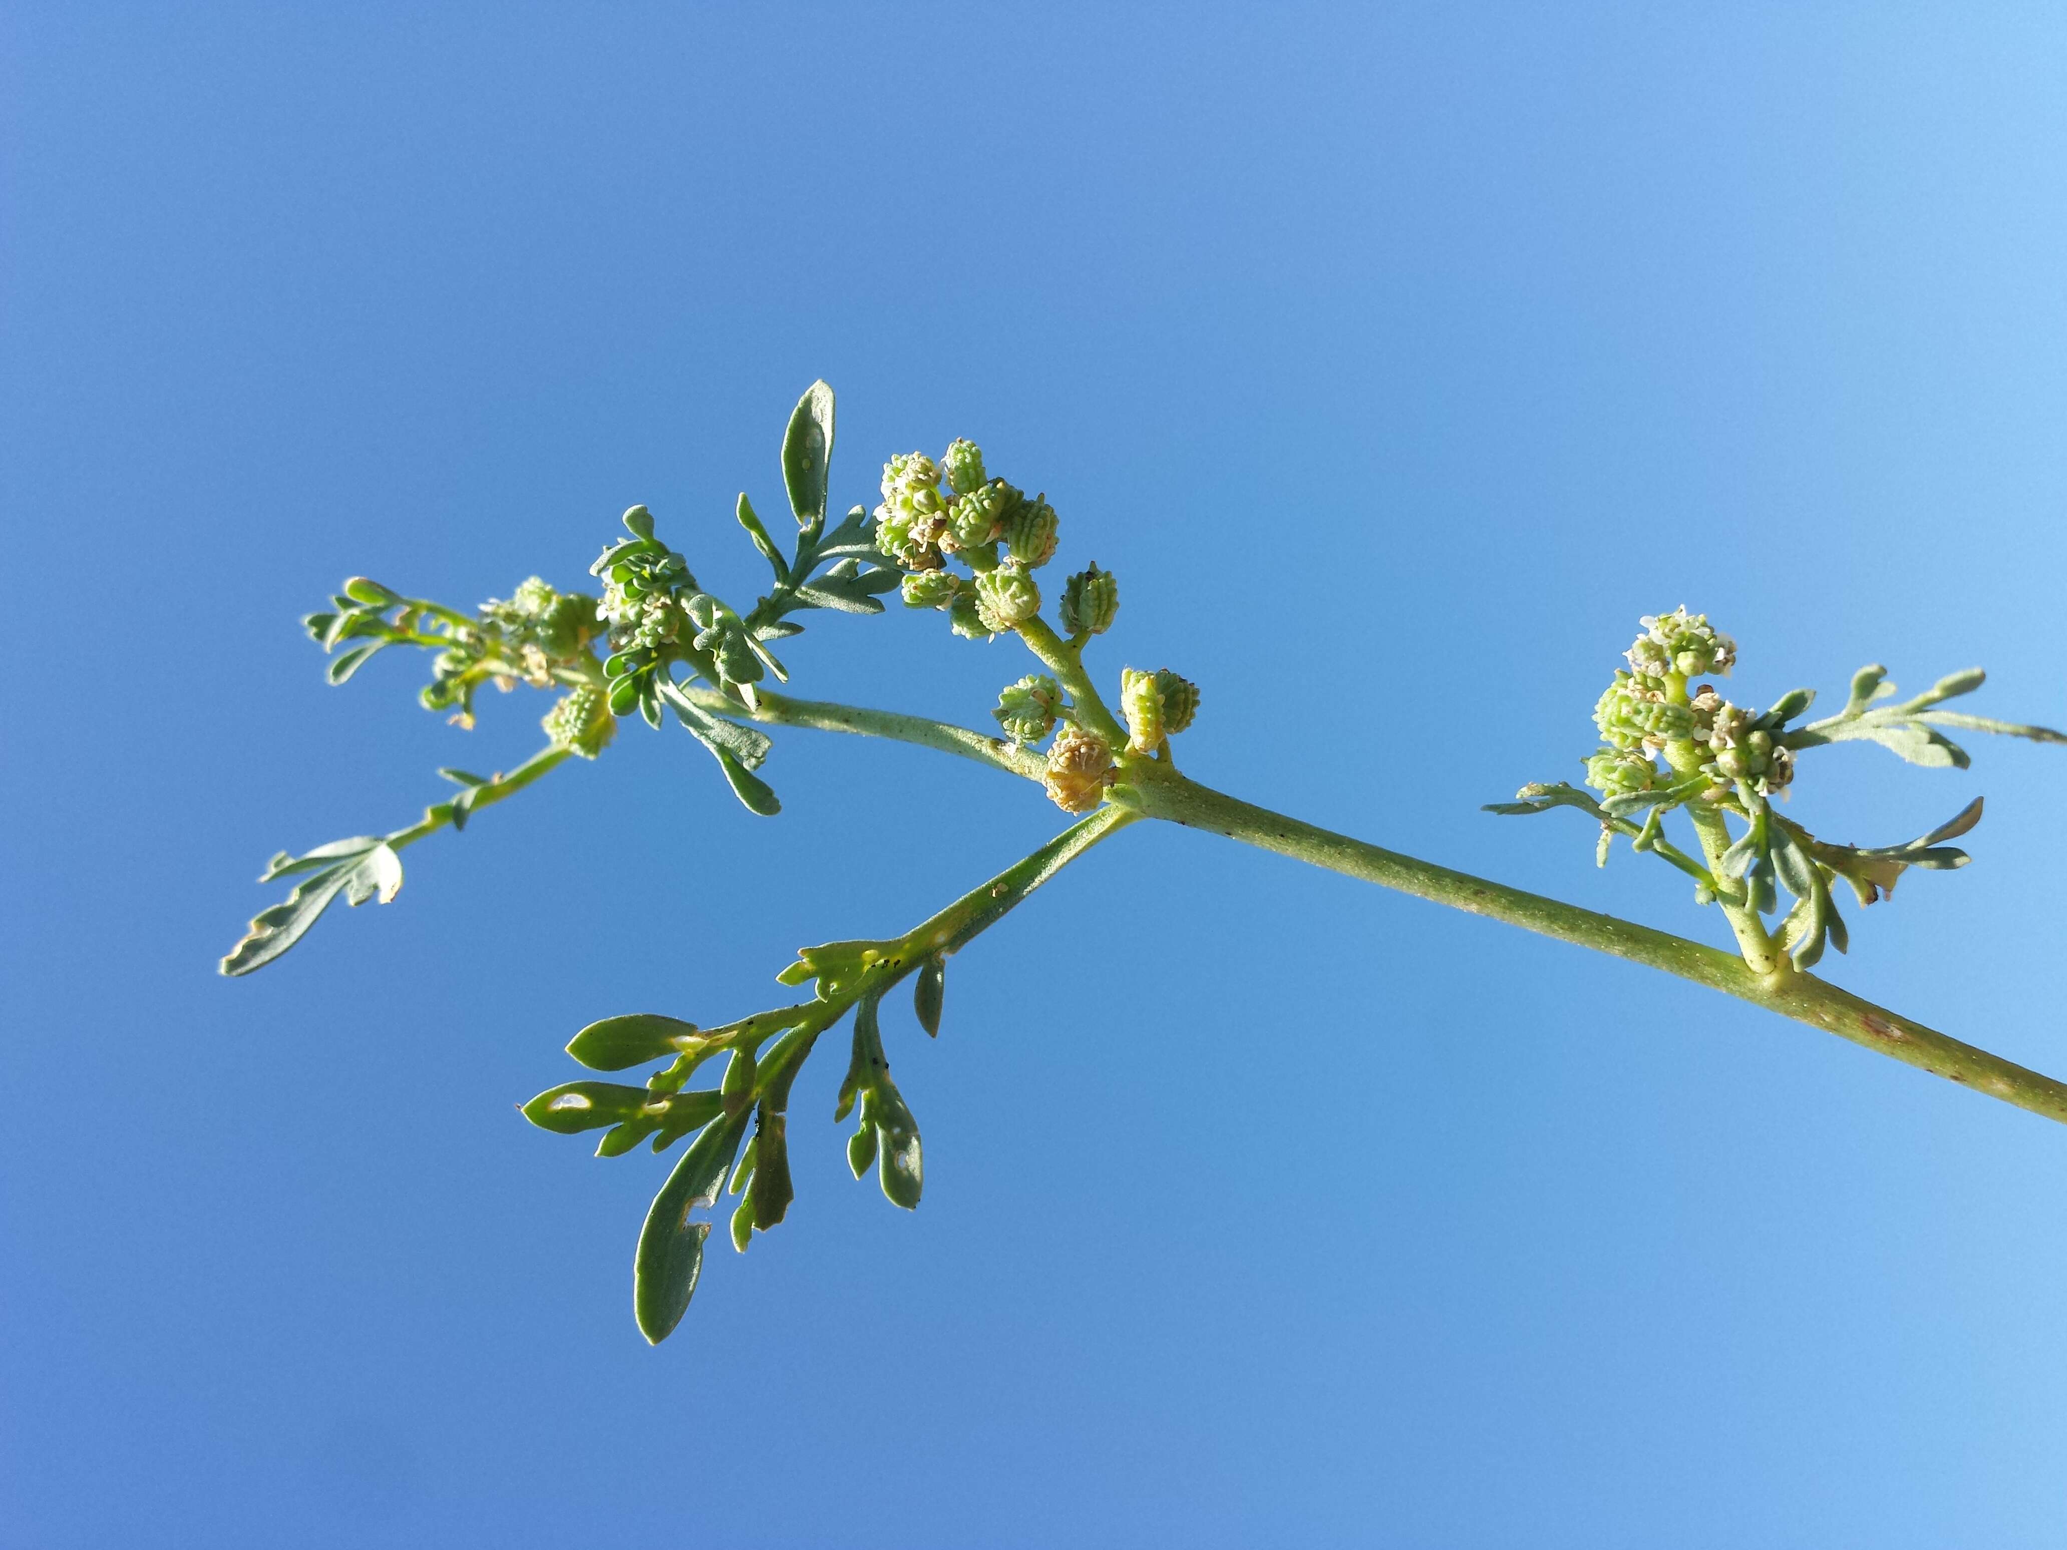
M 709 690 L 690 692 L 707 694 Z M 715 701 L 717 696 L 713 694 L 711 699 Z M 730 701 L 726 705 L 730 705 L 732 713 L 738 713 L 738 705 Z M 996 738 L 984 738 L 978 732 L 945 721 L 928 721 L 893 711 L 866 711 L 852 705 L 792 701 L 781 694 L 763 694 L 761 705 L 757 721 L 897 738 L 924 748 L 976 758 L 978 763 L 1027 779 L 1040 779 L 1044 769 L 1042 761 L 1023 748 L 1013 748 Z M 711 705 L 709 709 L 721 707 Z M 1590 947 L 1596 953 L 1610 953 L 1631 963 L 1664 969 L 1709 990 L 1720 990 L 1726 996 L 1749 1000 L 1753 1006 L 1792 1017 L 1796 1023 L 1852 1040 L 1869 1050 L 1929 1071 L 1935 1077 L 1974 1087 L 2032 1114 L 2067 1122 L 2067 1083 L 2053 1081 L 1986 1050 L 1976 1050 L 1972 1044 L 1962 1044 L 1912 1017 L 1840 990 L 1813 973 L 1788 969 L 1759 975 L 1732 953 L 1689 942 L 1685 936 L 1637 926 L 1629 920 L 1581 909 L 1559 899 L 1546 899 L 1538 893 L 1511 889 L 1505 882 L 1478 878 L 1470 872 L 1453 872 L 1447 866 L 1422 862 L 1414 856 L 1381 849 L 1379 845 L 1368 845 L 1360 839 L 1350 839 L 1348 835 L 1337 835 L 1329 829 L 1288 818 L 1282 812 L 1224 796 L 1178 775 L 1174 769 L 1164 769 L 1155 761 L 1135 761 L 1129 767 L 1129 779 L 1131 785 L 1124 796 L 1129 808 L 1139 816 L 1166 818 L 1186 829 L 1238 839 L 1244 845 L 1277 851 L 1308 866 L 1321 866 L 1329 872 L 1412 893 L 1430 903 L 1521 926 L 1540 936 L 1554 936 L 1561 942 Z M 1104 833 L 1110 831 L 1100 831 L 1100 835 Z

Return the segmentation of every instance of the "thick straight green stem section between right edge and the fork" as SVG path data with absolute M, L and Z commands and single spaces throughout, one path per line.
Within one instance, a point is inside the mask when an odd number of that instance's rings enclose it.
M 1308 866 L 1323 866 L 1329 872 L 1379 882 L 1474 916 L 1488 916 L 1509 926 L 1554 936 L 1561 942 L 1645 963 L 1798 1023 L 1838 1033 L 2032 1114 L 2067 1122 L 2067 1083 L 2057 1083 L 1986 1050 L 1976 1050 L 1972 1044 L 1947 1037 L 1910 1017 L 1875 1006 L 1813 973 L 1759 975 L 1742 959 L 1714 947 L 1379 849 L 1182 777 L 1141 779 L 1133 787 L 1133 796 L 1143 816 L 1226 835 Z

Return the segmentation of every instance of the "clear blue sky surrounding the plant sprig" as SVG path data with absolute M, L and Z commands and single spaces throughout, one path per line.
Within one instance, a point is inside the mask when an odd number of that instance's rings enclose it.
M 1058 827 L 792 734 L 777 820 L 628 727 L 265 973 L 277 847 L 508 767 L 351 572 L 573 585 L 635 500 L 967 434 L 1205 688 L 1186 769 L 1716 938 L 1563 779 L 1637 614 L 1738 686 L 1986 663 L 2067 719 L 2050 6 L 19 4 L 0 33 L 0 1544 L 2057 1546 L 2067 1130 L 1676 980 L 1191 833 L 1098 851 L 891 1056 L 845 1176 L 630 1321 L 666 1164 L 513 1102 L 769 1004 Z M 806 692 L 984 721 L 1011 643 L 829 618 Z M 1976 864 L 1846 986 L 2067 1068 L 2059 750 L 1809 763 Z M 891 860 L 841 847 L 897 835 Z

